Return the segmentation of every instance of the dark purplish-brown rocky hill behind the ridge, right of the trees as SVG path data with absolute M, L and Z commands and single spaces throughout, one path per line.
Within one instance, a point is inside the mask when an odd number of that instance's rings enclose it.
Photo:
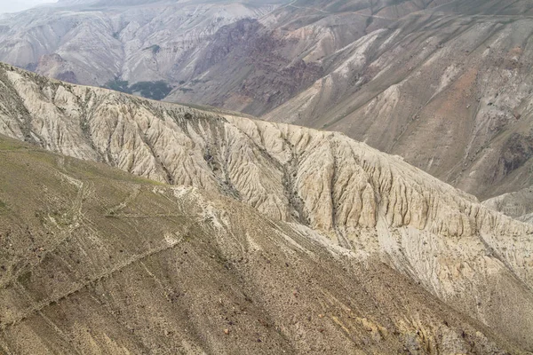
M 283 56 L 279 50 L 296 39 L 276 36 L 258 20 L 240 20 L 220 28 L 198 55 L 191 91 L 175 91 L 167 100 L 207 102 L 250 114 L 274 109 L 322 76 L 320 63 Z M 213 82 L 223 83 L 225 93 Z M 213 91 L 215 89 L 216 91 Z

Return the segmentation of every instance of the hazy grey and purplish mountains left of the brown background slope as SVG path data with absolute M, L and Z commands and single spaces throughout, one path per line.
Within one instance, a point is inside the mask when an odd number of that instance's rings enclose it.
M 0 18 L 0 60 L 121 91 L 164 81 L 167 100 L 264 114 L 324 75 L 330 54 L 449 1 L 66 1 Z

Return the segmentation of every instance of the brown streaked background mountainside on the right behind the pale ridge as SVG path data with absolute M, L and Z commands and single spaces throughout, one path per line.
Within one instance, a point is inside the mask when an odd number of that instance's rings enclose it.
M 528 1 L 473 0 L 408 15 L 265 118 L 343 131 L 481 199 L 519 190 L 532 183 L 530 15 Z

